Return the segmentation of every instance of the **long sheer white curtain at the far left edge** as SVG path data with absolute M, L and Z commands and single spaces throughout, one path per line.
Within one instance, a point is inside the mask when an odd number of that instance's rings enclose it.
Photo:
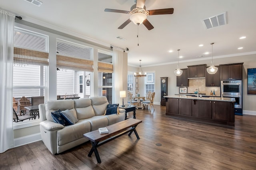
M 15 15 L 0 10 L 0 153 L 14 147 L 12 63 Z

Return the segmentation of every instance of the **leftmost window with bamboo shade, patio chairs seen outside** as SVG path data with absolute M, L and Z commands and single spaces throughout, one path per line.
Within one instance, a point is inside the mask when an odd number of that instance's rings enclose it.
M 39 105 L 40 103 L 44 103 L 46 99 L 47 52 L 48 36 L 15 27 L 12 93 L 16 102 L 18 102 L 18 107 L 14 108 L 18 116 L 21 114 L 30 114 L 28 110 L 20 105 L 19 100 L 23 96 L 29 100 L 29 105 Z M 42 100 L 32 100 L 34 97 L 40 96 Z M 38 117 L 36 118 L 36 120 L 25 120 L 14 124 L 19 125 L 28 121 L 39 121 Z

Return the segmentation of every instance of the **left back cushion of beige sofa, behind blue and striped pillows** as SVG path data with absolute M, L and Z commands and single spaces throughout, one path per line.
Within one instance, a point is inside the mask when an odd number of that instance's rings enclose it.
M 69 100 L 54 100 L 54 101 L 46 101 L 45 103 L 45 115 L 48 121 L 53 121 L 51 113 L 56 110 L 70 110 L 76 117 L 76 110 L 74 109 L 74 101 L 72 99 Z

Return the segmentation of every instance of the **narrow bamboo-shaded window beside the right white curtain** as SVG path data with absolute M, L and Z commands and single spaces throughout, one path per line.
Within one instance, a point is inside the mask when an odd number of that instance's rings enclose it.
M 104 51 L 98 52 L 98 94 L 106 96 L 108 103 L 112 103 L 113 95 L 113 64 L 112 54 Z

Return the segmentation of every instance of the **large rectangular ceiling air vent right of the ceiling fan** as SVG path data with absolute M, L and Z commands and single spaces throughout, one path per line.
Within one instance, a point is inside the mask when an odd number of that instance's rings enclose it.
M 227 24 L 226 12 L 202 20 L 206 29 Z

